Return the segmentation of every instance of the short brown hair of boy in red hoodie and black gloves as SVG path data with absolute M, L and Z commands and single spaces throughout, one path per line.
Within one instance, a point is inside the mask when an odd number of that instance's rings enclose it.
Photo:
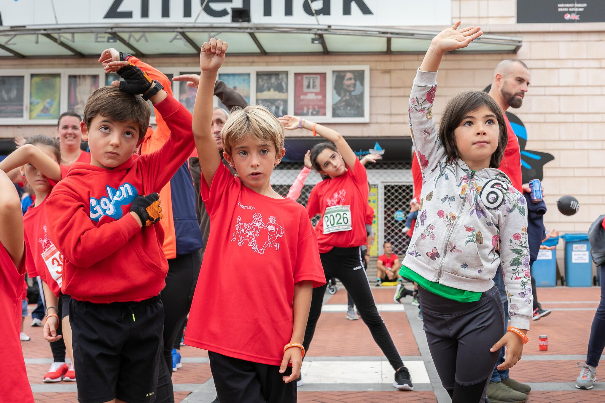
M 145 137 L 151 109 L 140 95 L 128 94 L 114 86 L 101 87 L 88 96 L 84 108 L 84 123 L 90 123 L 97 115 L 116 121 L 134 121 L 139 126 L 139 140 Z

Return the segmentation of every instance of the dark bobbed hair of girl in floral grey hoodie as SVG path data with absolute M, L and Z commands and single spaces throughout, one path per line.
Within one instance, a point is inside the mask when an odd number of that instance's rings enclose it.
M 500 167 L 500 161 L 502 161 L 502 156 L 504 155 L 508 135 L 506 134 L 506 123 L 502 116 L 500 106 L 495 102 L 494 98 L 490 97 L 486 92 L 462 92 L 448 102 L 439 124 L 439 140 L 443 144 L 443 149 L 448 158 L 458 158 L 458 147 L 456 146 L 454 129 L 460 125 L 463 117 L 482 106 L 487 106 L 489 110 L 492 111 L 498 121 L 498 127 L 500 129 L 498 147 L 495 149 L 494 153 L 492 153 L 491 159 L 489 160 L 489 166 L 497 168 Z

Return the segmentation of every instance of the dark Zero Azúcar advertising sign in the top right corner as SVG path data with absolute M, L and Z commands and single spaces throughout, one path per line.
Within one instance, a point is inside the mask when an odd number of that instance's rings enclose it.
M 605 22 L 605 1 L 517 0 L 517 22 Z

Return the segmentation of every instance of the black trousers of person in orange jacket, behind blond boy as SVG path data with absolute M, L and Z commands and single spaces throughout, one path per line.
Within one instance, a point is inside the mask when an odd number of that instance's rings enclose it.
M 172 389 L 172 346 L 191 309 L 191 300 L 200 275 L 200 251 L 168 259 L 166 286 L 160 297 L 164 305 L 163 354 L 157 381 L 157 403 L 174 402 Z

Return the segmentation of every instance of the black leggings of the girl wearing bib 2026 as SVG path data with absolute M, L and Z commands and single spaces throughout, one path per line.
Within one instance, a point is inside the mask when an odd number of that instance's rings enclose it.
M 387 357 L 388 362 L 395 370 L 402 367 L 404 363 L 401 361 L 401 356 L 399 356 L 393 339 L 388 333 L 387 326 L 385 326 L 376 309 L 370 283 L 368 283 L 368 277 L 365 275 L 360 248 L 332 248 L 328 253 L 320 253 L 319 257 L 321 257 L 321 264 L 324 266 L 325 282 L 327 283 L 328 279 L 333 278 L 341 281 L 353 298 L 361 319 L 370 329 L 374 341 Z M 315 326 L 319 320 L 319 315 L 321 315 L 326 287 L 327 284 L 313 288 L 309 320 L 302 343 L 307 352 L 311 340 L 313 340 L 313 334 L 315 334 Z

